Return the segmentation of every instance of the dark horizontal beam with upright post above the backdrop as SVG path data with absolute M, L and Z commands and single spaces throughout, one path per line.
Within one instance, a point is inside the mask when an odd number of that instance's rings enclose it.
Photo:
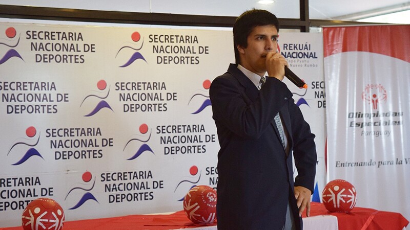
M 368 24 L 357 21 L 310 20 L 309 0 L 300 0 L 299 7 L 299 19 L 279 18 L 281 29 L 298 29 L 301 32 L 309 32 L 310 27 Z M 11 5 L 0 5 L 0 17 L 197 27 L 233 27 L 236 19 L 236 17 L 231 16 L 137 13 Z

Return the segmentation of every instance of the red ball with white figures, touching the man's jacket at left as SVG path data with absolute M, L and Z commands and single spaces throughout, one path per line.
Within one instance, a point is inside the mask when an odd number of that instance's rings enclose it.
M 195 224 L 212 224 L 216 218 L 216 200 L 214 189 L 195 186 L 183 198 L 183 211 Z

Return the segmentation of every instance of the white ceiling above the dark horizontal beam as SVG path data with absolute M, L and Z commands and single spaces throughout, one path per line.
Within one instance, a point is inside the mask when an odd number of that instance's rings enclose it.
M 261 5 L 257 0 L 0 0 L 0 5 L 216 16 L 238 16 L 257 8 L 269 10 L 279 18 L 299 18 L 299 0 L 275 0 L 271 5 Z M 353 14 L 378 12 L 392 6 L 409 7 L 410 0 L 310 0 L 309 14 L 311 19 L 349 20 Z

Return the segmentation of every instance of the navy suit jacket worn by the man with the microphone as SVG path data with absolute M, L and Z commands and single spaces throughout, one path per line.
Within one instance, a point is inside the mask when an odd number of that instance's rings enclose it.
M 280 80 L 268 77 L 258 90 L 235 64 L 211 84 L 210 98 L 217 127 L 218 229 L 282 229 L 290 202 L 298 217 L 294 186 L 313 191 L 316 173 L 315 135 Z M 286 157 L 275 114 L 288 131 L 292 154 Z M 301 228 L 301 218 L 295 218 Z

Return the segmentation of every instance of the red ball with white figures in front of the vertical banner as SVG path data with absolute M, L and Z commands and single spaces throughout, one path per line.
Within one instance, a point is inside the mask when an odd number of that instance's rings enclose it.
M 322 201 L 330 212 L 348 213 L 356 205 L 356 189 L 346 180 L 332 180 L 323 189 Z

